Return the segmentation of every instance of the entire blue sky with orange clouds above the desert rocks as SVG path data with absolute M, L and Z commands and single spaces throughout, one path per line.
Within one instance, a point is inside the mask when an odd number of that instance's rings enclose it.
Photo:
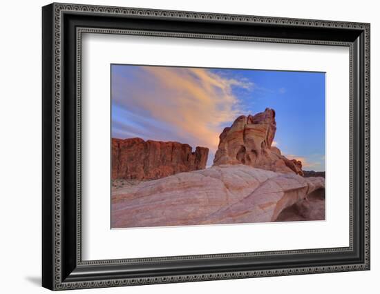
M 303 170 L 325 170 L 325 73 L 111 65 L 112 137 L 209 148 L 240 115 L 276 111 L 274 144 Z

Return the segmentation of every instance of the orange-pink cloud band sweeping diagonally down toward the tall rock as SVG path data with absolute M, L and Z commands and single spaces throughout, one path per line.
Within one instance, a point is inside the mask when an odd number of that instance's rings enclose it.
M 254 87 L 249 81 L 227 79 L 203 68 L 142 66 L 138 80 L 144 86 L 115 79 L 117 103 L 144 110 L 186 137 L 184 143 L 208 147 L 211 153 L 218 148 L 220 125 L 241 113 L 231 87 Z

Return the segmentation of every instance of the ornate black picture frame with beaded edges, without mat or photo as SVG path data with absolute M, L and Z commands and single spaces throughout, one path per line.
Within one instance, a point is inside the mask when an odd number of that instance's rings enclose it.
M 370 269 L 370 24 L 53 3 L 42 9 L 42 285 L 51 290 Z M 81 36 L 150 35 L 350 49 L 350 246 L 82 260 Z

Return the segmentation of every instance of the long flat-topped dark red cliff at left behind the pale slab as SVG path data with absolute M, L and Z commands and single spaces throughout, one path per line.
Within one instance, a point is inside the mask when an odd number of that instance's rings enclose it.
M 112 179 L 159 179 L 206 167 L 209 149 L 188 144 L 112 139 Z

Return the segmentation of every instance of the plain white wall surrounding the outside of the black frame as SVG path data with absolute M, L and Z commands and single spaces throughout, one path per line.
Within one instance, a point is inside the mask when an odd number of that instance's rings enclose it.
M 82 290 L 82 293 L 377 293 L 380 277 L 379 86 L 377 1 L 70 1 L 112 6 L 255 14 L 371 23 L 372 269 L 365 272 Z M 1 3 L 0 277 L 2 293 L 47 293 L 41 280 L 41 6 Z M 73 291 L 70 293 L 75 293 Z M 79 292 L 78 292 L 79 293 Z

